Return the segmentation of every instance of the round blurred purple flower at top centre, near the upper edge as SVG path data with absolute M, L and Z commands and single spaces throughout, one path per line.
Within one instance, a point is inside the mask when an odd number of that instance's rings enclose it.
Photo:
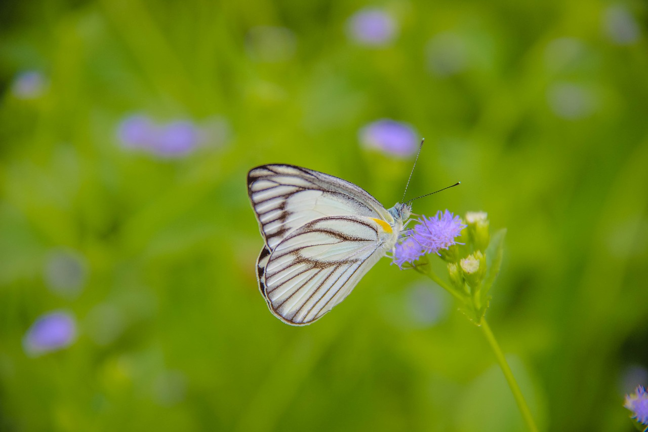
M 393 40 L 396 30 L 394 19 L 380 8 L 358 10 L 347 21 L 349 37 L 361 45 L 386 45 Z

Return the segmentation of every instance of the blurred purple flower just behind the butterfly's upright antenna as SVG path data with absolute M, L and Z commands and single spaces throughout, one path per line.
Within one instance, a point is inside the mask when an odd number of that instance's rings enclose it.
M 377 149 L 386 154 L 404 158 L 417 150 L 416 132 L 407 123 L 380 119 L 360 129 L 360 143 L 367 149 Z

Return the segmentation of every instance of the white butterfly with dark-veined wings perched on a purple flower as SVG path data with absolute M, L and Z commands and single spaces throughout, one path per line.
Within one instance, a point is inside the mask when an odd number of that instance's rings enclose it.
M 248 195 L 265 245 L 259 289 L 270 311 L 304 326 L 346 298 L 392 250 L 411 204 L 386 210 L 353 183 L 294 165 L 248 173 Z

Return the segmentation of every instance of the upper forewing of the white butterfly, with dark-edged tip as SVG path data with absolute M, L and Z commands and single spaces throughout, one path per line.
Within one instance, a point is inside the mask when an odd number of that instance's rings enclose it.
M 356 215 L 393 222 L 367 191 L 335 176 L 294 165 L 272 164 L 248 173 L 248 195 L 266 246 L 321 217 Z

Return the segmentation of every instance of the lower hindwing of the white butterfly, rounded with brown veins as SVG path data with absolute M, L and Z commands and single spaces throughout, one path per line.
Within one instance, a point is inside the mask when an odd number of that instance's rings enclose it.
M 264 246 L 257 272 L 268 307 L 288 324 L 318 320 L 384 256 L 386 237 L 375 219 L 334 216 L 307 222 L 274 250 Z

